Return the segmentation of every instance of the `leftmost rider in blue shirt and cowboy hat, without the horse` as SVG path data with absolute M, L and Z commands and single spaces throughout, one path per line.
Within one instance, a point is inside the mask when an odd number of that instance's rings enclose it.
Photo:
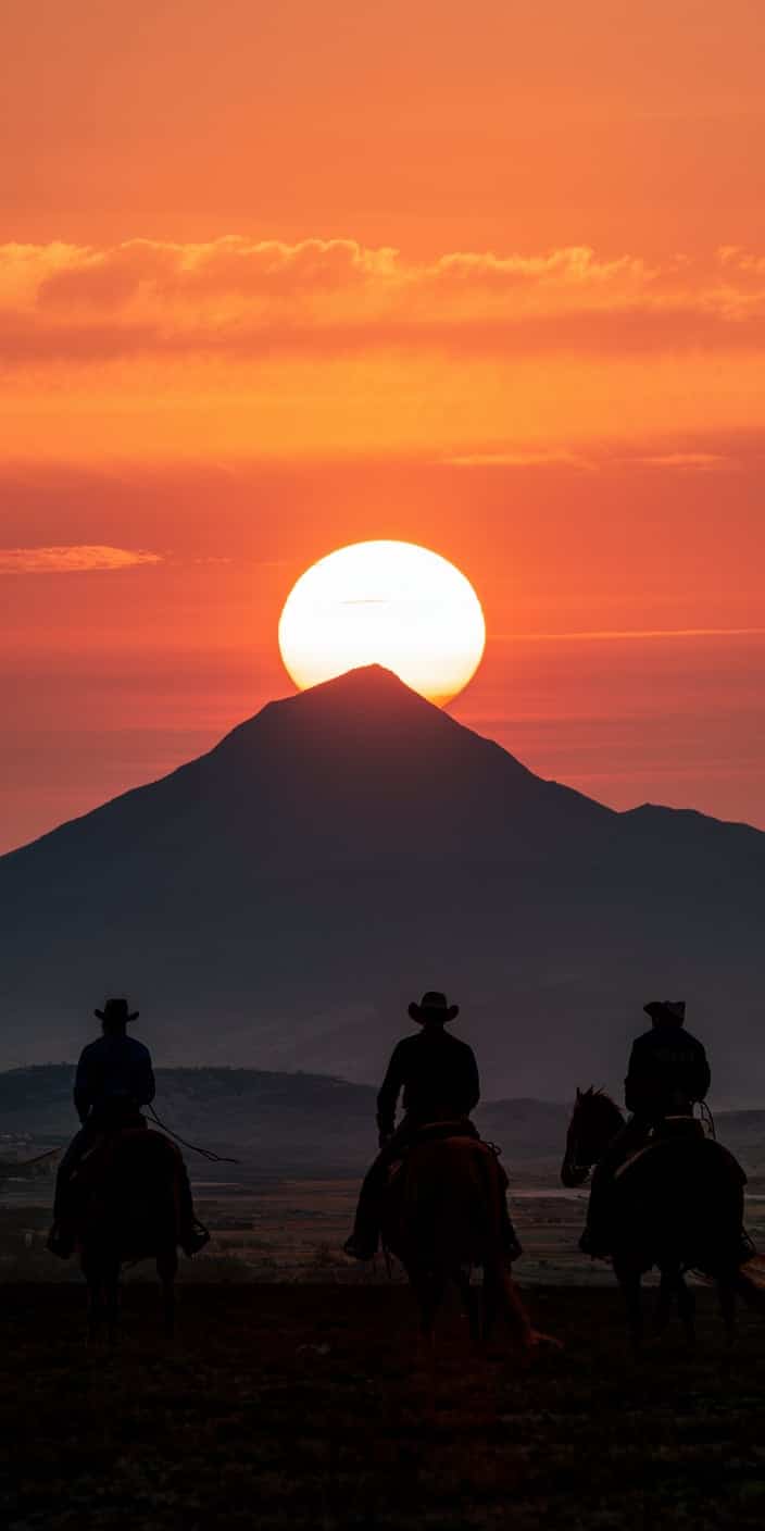
M 47 1239 L 52 1254 L 66 1260 L 76 1243 L 73 1182 L 86 1154 L 109 1136 L 145 1130 L 141 1107 L 155 1099 L 155 1072 L 148 1047 L 127 1035 L 129 1021 L 138 1018 L 130 1012 L 127 1000 L 107 1000 L 103 1010 L 93 1012 L 101 1021 L 103 1035 L 89 1043 L 76 1066 L 73 1101 L 81 1128 L 69 1144 L 61 1159 L 55 1183 L 54 1226 Z M 210 1234 L 194 1219 L 191 1187 L 184 1162 L 177 1159 L 177 1202 L 181 1246 L 185 1254 L 196 1254 L 208 1242 Z

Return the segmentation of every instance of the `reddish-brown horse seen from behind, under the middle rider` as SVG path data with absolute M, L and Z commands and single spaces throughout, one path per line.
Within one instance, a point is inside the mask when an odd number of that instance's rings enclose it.
M 502 1249 L 505 1185 L 494 1150 L 467 1134 L 415 1142 L 389 1180 L 382 1248 L 407 1272 L 419 1307 L 421 1344 L 428 1352 L 450 1283 L 462 1298 L 476 1347 L 490 1338 L 500 1312 L 522 1349 L 543 1338 L 531 1326 Z M 483 1271 L 480 1306 L 473 1266 Z

